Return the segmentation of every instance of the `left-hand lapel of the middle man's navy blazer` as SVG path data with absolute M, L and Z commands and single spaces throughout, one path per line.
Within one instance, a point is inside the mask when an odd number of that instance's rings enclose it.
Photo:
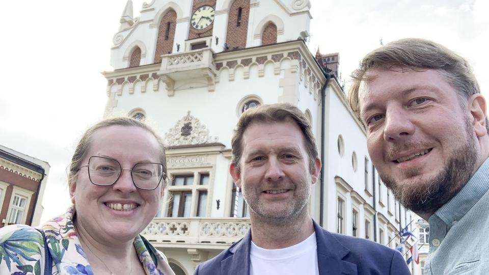
M 221 274 L 250 275 L 251 229 L 234 245 L 231 256 L 221 261 Z

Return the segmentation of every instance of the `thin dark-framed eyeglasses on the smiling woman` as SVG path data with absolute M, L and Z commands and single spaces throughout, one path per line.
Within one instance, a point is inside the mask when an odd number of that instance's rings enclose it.
M 88 167 L 88 177 L 95 185 L 108 186 L 114 184 L 122 174 L 122 170 L 130 170 L 132 182 L 140 189 L 154 190 L 158 187 L 165 175 L 161 163 L 139 162 L 132 169 L 122 168 L 119 161 L 110 157 L 91 156 L 88 164 L 79 169 Z M 78 169 L 78 170 L 79 170 Z

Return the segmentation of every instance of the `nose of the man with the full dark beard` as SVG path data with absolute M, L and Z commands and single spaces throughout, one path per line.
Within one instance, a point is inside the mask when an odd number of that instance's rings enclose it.
M 389 107 L 385 120 L 384 139 L 388 142 L 401 141 L 414 133 L 411 114 L 401 106 Z

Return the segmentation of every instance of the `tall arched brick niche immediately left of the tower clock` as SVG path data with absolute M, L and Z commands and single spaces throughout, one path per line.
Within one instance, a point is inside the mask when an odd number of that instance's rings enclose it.
M 172 52 L 173 39 L 175 37 L 177 13 L 174 10 L 168 11 L 159 22 L 158 39 L 156 40 L 156 51 L 154 53 L 154 63 L 161 63 L 161 55 Z M 170 23 L 170 32 L 166 38 L 167 25 Z

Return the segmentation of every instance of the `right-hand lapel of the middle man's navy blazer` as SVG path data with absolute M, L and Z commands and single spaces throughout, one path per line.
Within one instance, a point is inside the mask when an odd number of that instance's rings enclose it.
M 357 265 L 342 259 L 350 253 L 330 232 L 314 222 L 320 275 L 357 275 Z

